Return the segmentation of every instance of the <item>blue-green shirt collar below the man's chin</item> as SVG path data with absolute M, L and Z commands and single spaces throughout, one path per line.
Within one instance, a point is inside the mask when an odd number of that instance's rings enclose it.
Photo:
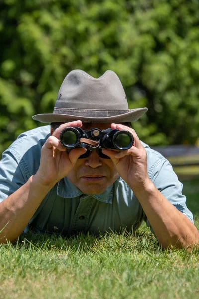
M 113 198 L 113 192 L 114 192 L 114 184 L 109 186 L 103 193 L 101 194 L 85 194 L 80 191 L 75 185 L 73 185 L 67 177 L 64 177 L 58 182 L 57 185 L 57 195 L 64 197 L 64 198 L 73 198 L 83 195 L 84 197 L 92 196 L 93 198 L 106 202 L 106 203 L 112 203 Z

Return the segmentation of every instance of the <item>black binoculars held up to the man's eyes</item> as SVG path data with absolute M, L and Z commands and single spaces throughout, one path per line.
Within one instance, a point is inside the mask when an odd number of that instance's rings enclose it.
M 133 145 L 133 135 L 128 130 L 108 128 L 101 131 L 94 128 L 84 131 L 80 127 L 67 127 L 60 133 L 60 142 L 67 149 L 85 148 L 87 152 L 79 158 L 86 158 L 92 150 L 97 150 L 100 157 L 109 159 L 102 149 L 130 149 Z

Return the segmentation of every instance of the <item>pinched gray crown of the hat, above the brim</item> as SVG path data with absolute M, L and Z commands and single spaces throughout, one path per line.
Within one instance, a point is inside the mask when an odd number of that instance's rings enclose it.
M 119 77 L 113 71 L 94 78 L 82 70 L 73 70 L 59 89 L 56 108 L 128 110 L 128 102 Z

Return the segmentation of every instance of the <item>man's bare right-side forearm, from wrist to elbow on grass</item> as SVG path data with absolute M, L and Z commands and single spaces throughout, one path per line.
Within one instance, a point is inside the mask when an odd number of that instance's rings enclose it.
M 199 243 L 199 232 L 193 223 L 151 181 L 134 192 L 163 248 L 171 245 L 188 247 Z

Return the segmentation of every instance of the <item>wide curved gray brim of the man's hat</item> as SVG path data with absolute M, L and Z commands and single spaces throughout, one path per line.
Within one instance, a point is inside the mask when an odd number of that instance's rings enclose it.
M 71 121 L 81 120 L 83 123 L 124 123 L 124 122 L 135 122 L 137 121 L 145 112 L 147 108 L 137 108 L 132 109 L 127 113 L 109 116 L 109 117 L 85 117 L 77 115 L 59 114 L 59 113 L 46 113 L 37 114 L 32 118 L 36 121 L 42 123 L 67 123 Z

